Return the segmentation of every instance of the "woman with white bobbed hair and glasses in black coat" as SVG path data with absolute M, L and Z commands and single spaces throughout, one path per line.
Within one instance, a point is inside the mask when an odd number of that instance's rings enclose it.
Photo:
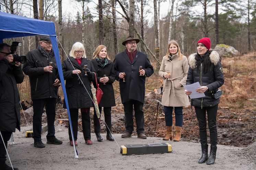
M 91 100 L 91 81 L 95 80 L 94 75 L 92 74 L 92 71 L 95 72 L 95 70 L 91 61 L 86 58 L 84 45 L 81 42 L 76 42 L 73 44 L 67 60 L 63 61 L 62 63 L 62 70 L 64 79 L 66 80 L 67 98 L 72 122 L 72 129 L 74 133 L 73 144 L 69 125 L 69 144 L 71 146 L 78 145 L 78 109 L 80 108 L 84 140 L 87 145 L 92 145 L 91 122 L 89 113 L 90 107 L 93 107 Z M 84 89 L 80 79 L 83 81 L 83 84 L 87 91 Z M 91 97 L 89 96 L 88 92 Z M 65 102 L 63 104 L 63 107 L 67 108 Z

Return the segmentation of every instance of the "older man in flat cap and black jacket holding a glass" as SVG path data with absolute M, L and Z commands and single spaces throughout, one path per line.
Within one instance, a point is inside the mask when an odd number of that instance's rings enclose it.
M 46 108 L 48 134 L 47 144 L 62 144 L 55 137 L 55 108 L 58 94 L 59 79 L 56 60 L 49 36 L 40 35 L 37 49 L 27 53 L 27 62 L 23 71 L 30 79 L 31 99 L 33 101 L 33 138 L 34 146 L 45 147 L 41 139 L 42 114 Z

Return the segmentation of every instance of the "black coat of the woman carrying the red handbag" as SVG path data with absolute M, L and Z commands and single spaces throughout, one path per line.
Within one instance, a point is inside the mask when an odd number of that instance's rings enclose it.
M 103 91 L 103 96 L 101 98 L 101 102 L 99 104 L 100 107 L 112 107 L 116 105 L 115 95 L 112 83 L 115 81 L 115 71 L 114 71 L 114 63 L 108 60 L 108 64 L 105 65 L 104 68 L 96 61 L 92 60 L 93 67 L 97 72 L 97 81 L 100 84 L 100 88 Z M 103 75 L 106 75 L 109 78 L 109 81 L 105 84 L 100 82 L 100 78 Z M 96 88 L 96 83 L 94 83 L 94 87 Z

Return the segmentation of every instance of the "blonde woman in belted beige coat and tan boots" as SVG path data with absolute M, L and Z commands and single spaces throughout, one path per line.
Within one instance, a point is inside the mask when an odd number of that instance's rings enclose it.
M 172 40 L 168 43 L 168 50 L 163 57 L 159 76 L 163 78 L 162 105 L 164 105 L 166 136 L 163 140 L 178 142 L 181 138 L 183 123 L 183 106 L 189 105 L 188 96 L 184 93 L 188 74 L 187 57 L 181 54 L 179 45 Z M 175 113 L 175 137 L 173 139 L 172 112 Z

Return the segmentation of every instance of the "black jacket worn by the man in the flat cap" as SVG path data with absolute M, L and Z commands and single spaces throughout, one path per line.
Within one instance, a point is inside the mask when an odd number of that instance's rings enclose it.
M 23 71 L 29 76 L 31 99 L 57 98 L 58 87 L 53 86 L 58 78 L 58 68 L 54 54 L 47 58 L 38 49 L 32 50 L 26 55 L 27 61 Z M 44 67 L 53 62 L 53 73 L 44 72 Z

